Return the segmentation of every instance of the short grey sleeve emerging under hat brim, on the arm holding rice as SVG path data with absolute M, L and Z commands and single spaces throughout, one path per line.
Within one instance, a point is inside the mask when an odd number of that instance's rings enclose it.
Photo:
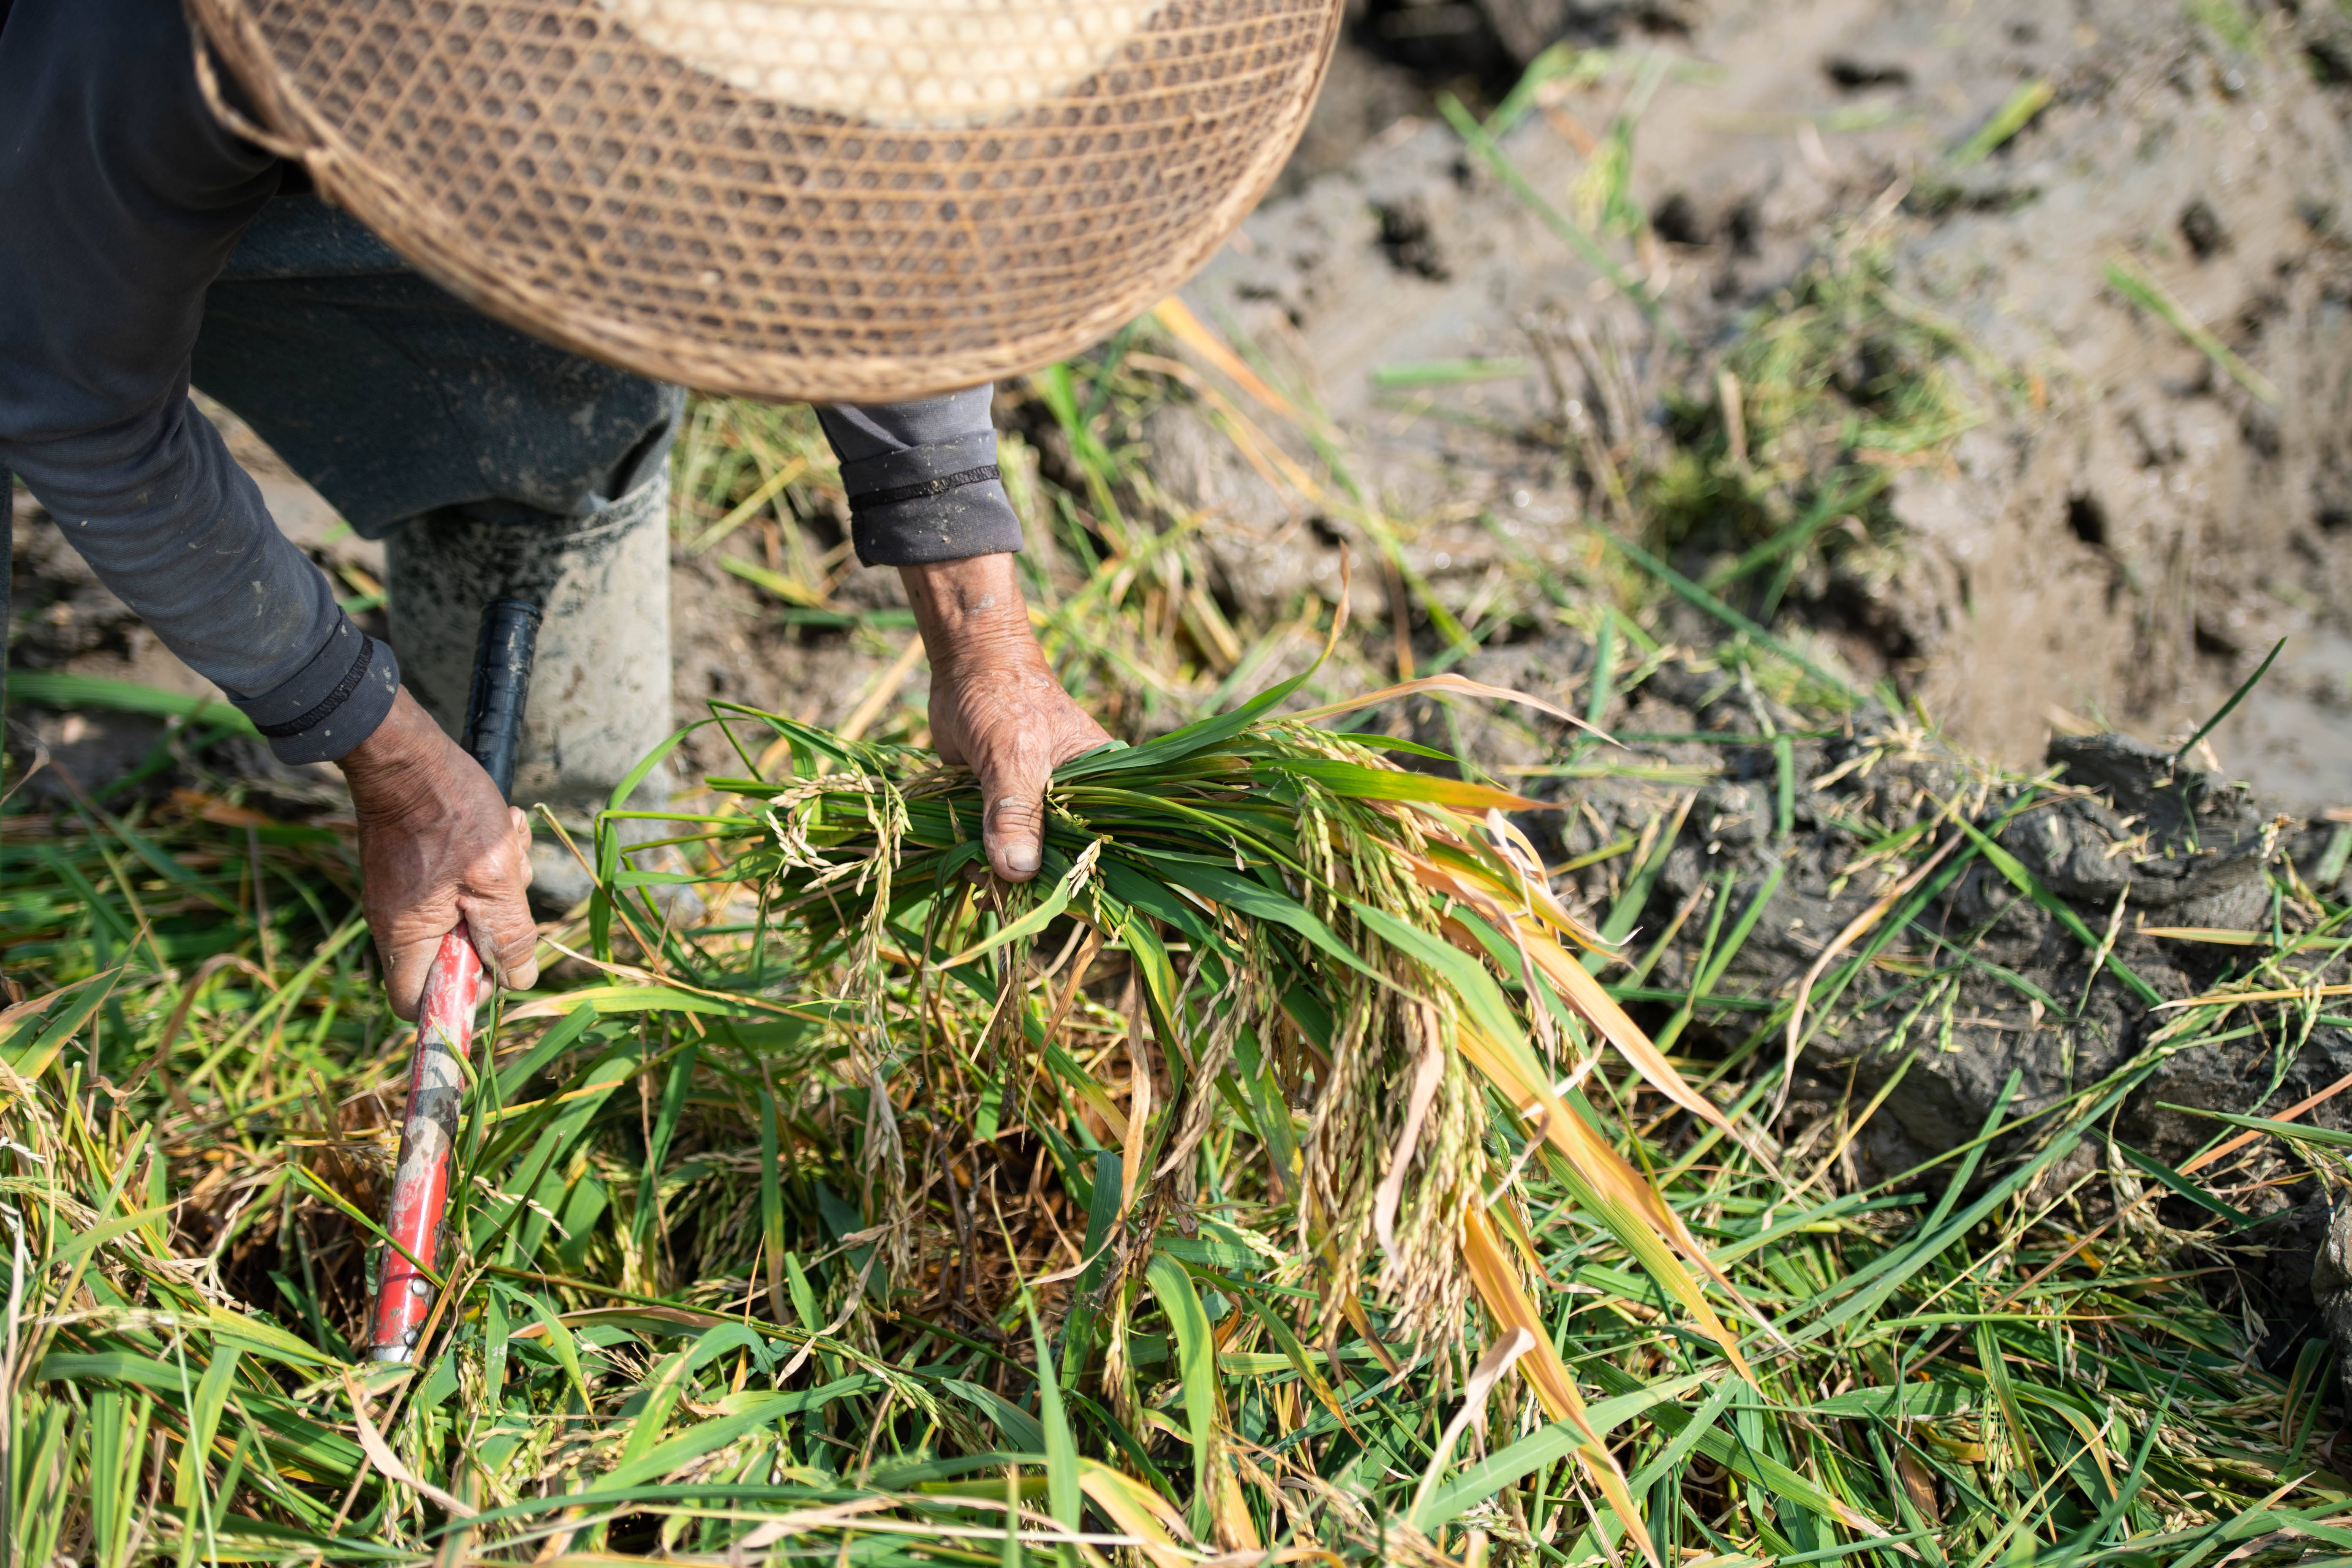
M 927 567 L 1021 548 L 997 470 L 995 388 L 816 411 L 842 461 L 849 536 L 868 567 Z

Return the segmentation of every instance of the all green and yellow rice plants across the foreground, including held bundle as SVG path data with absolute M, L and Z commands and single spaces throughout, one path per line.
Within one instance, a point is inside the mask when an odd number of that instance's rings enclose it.
M 1025 889 L 974 879 L 969 778 L 717 710 L 691 870 L 609 823 L 579 957 L 489 1020 L 414 1368 L 350 1366 L 407 1041 L 341 839 L 9 816 L 16 1559 L 2352 1540 L 2324 1345 L 2251 1366 L 2197 1237 L 2046 1190 L 2122 1081 L 1839 1185 L 1762 1128 L 1773 1053 L 1703 1095 L 1630 1025 L 1522 802 L 1282 701 L 1065 766 Z M 2298 1009 L 2326 929 L 2164 1044 Z

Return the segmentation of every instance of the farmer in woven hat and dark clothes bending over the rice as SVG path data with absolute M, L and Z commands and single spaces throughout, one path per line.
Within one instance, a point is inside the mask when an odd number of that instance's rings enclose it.
M 524 816 L 445 733 L 482 602 L 546 611 L 517 799 L 593 806 L 670 729 L 670 381 L 830 400 L 858 559 L 901 571 L 929 651 L 938 752 L 978 773 L 995 872 L 1035 875 L 1047 776 L 1103 731 L 1030 632 L 985 381 L 1084 346 L 1223 240 L 1329 26 L 1244 40 L 1256 75 L 1218 87 L 1192 35 L 1190 85 L 1155 75 L 1164 40 L 1105 0 L 195 12 L 202 52 L 181 0 L 0 0 L 0 465 L 280 759 L 343 769 L 395 1011 L 461 917 L 501 983 L 536 978 Z M 1272 89 L 1268 59 L 1291 61 Z M 1065 101 L 1096 122 L 1141 103 L 1150 143 L 1089 150 L 1056 129 Z M 1047 139 L 981 146 L 1004 127 Z M 929 195 L 811 205 L 858 158 L 866 190 Z M 743 277 L 753 299 L 713 294 Z M 278 531 L 191 381 L 388 541 L 397 656 Z

